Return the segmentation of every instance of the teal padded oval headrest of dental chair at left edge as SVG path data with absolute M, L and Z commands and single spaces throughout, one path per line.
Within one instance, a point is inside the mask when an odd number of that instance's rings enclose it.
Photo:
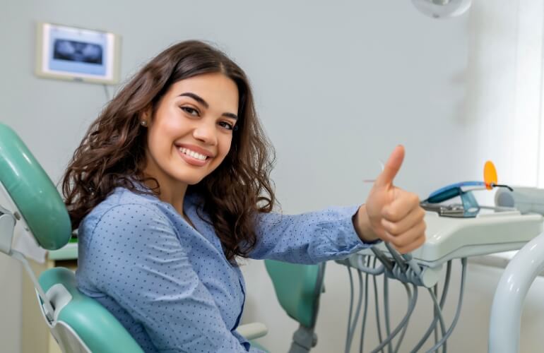
M 70 217 L 59 191 L 15 131 L 1 123 L 0 183 L 42 248 L 68 243 Z

